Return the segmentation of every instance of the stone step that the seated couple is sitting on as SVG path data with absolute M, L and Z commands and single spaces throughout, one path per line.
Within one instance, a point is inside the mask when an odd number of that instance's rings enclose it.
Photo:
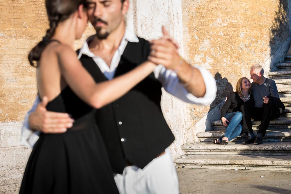
M 291 107 L 288 107 L 289 110 Z M 286 109 L 285 109 L 286 110 Z M 253 130 L 257 130 L 261 121 L 252 121 Z M 221 124 L 220 120 L 212 121 L 211 125 L 213 126 L 214 130 L 224 130 L 225 128 Z M 275 130 L 275 129 L 291 129 L 291 118 L 278 118 L 276 120 L 271 120 L 269 127 L 267 130 Z

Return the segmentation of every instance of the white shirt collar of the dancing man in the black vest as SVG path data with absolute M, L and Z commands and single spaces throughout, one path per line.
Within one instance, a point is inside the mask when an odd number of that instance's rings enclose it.
M 94 35 L 91 35 L 87 38 L 87 40 L 84 42 L 83 46 L 81 47 L 81 49 L 79 50 L 79 54 L 78 54 L 78 59 L 81 58 L 82 54 L 85 54 L 89 57 L 94 57 L 95 55 L 90 51 L 88 43 L 93 40 L 93 38 L 95 37 Z M 137 38 L 137 36 L 130 30 L 125 29 L 125 33 L 124 36 L 121 40 L 121 43 L 124 41 L 128 41 L 128 42 L 139 42 L 139 39 Z M 120 43 L 120 44 L 121 44 Z

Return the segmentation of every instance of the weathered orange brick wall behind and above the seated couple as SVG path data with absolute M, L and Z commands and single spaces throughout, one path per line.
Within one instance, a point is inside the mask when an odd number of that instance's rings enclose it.
M 185 0 L 182 13 L 186 58 L 207 68 L 218 89 L 210 106 L 187 105 L 189 129 L 287 40 L 289 13 L 284 0 Z

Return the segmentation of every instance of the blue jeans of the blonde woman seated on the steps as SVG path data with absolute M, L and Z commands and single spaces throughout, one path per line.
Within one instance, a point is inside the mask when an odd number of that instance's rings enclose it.
M 227 137 L 230 141 L 233 138 L 239 136 L 239 134 L 242 132 L 242 113 L 226 113 L 224 117 L 229 120 L 228 126 L 226 127 L 226 130 L 224 132 L 224 137 Z M 222 120 L 220 121 L 222 123 Z

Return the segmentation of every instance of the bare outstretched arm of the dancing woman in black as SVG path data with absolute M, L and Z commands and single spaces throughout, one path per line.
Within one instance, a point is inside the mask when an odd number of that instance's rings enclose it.
M 60 47 L 57 56 L 61 74 L 78 97 L 95 108 L 101 108 L 123 96 L 156 67 L 152 62 L 144 62 L 115 79 L 95 83 L 92 76 L 77 59 L 76 52 L 65 45 L 60 45 Z

